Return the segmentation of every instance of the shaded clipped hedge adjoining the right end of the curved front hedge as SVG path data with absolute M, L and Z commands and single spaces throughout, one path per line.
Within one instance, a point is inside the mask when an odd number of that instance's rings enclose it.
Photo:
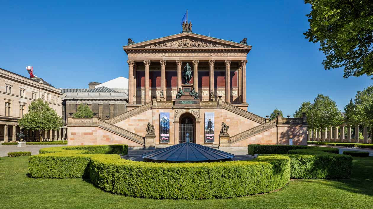
M 293 148 L 293 149 L 291 149 Z M 284 153 L 288 150 L 287 153 Z M 352 157 L 338 155 L 337 148 L 289 145 L 248 145 L 249 154 L 285 154 L 289 156 L 290 177 L 301 179 L 349 178 Z

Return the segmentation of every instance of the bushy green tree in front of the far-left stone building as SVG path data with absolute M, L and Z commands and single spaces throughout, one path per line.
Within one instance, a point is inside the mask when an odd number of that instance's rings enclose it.
M 31 102 L 28 106 L 28 113 L 23 115 L 18 120 L 18 123 L 21 129 L 38 130 L 41 141 L 41 132 L 60 129 L 62 127 L 62 118 L 46 102 L 37 99 Z

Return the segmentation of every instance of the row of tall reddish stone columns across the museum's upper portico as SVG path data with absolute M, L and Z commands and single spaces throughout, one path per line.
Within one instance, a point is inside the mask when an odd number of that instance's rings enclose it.
M 214 64 L 215 61 L 218 60 L 208 60 L 209 63 L 209 92 L 211 90 L 214 91 Z M 225 79 L 225 102 L 230 103 L 231 102 L 231 83 L 230 83 L 230 66 L 231 66 L 231 60 L 219 60 L 223 61 L 225 64 L 225 77 L 229 79 Z M 143 63 L 145 65 L 145 81 L 148 81 L 150 79 L 149 77 L 149 67 L 151 62 L 154 62 L 153 60 L 143 60 Z M 135 92 L 135 85 L 134 85 L 134 65 L 135 61 L 133 60 L 127 60 L 129 71 L 128 71 L 128 104 L 136 104 L 134 100 L 134 92 Z M 166 64 L 167 60 L 160 60 L 159 61 L 161 66 L 161 91 L 163 91 L 164 98 L 166 98 Z M 182 85 L 182 73 L 181 73 L 181 66 L 182 66 L 183 60 L 176 60 L 176 66 L 177 66 L 177 89 L 181 88 Z M 198 78 L 198 63 L 199 60 L 192 60 L 193 63 L 193 77 Z M 240 60 L 239 64 L 241 65 L 241 71 L 242 71 L 242 83 L 241 83 L 241 95 L 242 95 L 242 104 L 247 104 L 246 102 L 246 64 L 247 60 Z M 144 92 L 144 100 L 145 103 L 150 102 L 151 98 L 149 95 L 149 82 L 145 82 L 144 84 L 145 92 Z M 195 88 L 195 91 L 198 92 L 198 79 L 193 79 L 193 87 Z M 210 98 L 211 100 L 211 98 Z

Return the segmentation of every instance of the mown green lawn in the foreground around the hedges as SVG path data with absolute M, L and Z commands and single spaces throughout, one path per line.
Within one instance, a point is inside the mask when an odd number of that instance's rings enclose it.
M 82 179 L 28 177 L 28 156 L 0 159 L 0 208 L 372 208 L 373 157 L 354 157 L 348 180 L 294 180 L 269 194 L 207 200 L 115 195 Z

